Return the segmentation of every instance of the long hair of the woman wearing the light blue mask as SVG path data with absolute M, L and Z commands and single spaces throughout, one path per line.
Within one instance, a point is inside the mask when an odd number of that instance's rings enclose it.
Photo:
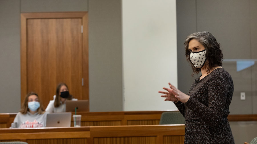
M 22 104 L 22 107 L 21 107 L 20 112 L 21 112 L 22 114 L 27 114 L 27 112 L 29 111 L 29 108 L 28 108 L 28 101 L 29 101 L 29 96 L 31 96 L 31 95 L 36 95 L 37 98 L 38 98 L 38 102 L 39 102 L 40 106 L 39 106 L 39 108 L 37 109 L 37 112 L 38 112 L 39 114 L 45 113 L 45 109 L 44 109 L 44 107 L 43 107 L 43 104 L 41 103 L 41 100 L 40 100 L 38 94 L 36 94 L 35 92 L 29 92 L 29 93 L 27 94 L 27 96 L 25 97 L 25 99 L 24 99 L 24 101 L 23 101 L 23 104 Z

